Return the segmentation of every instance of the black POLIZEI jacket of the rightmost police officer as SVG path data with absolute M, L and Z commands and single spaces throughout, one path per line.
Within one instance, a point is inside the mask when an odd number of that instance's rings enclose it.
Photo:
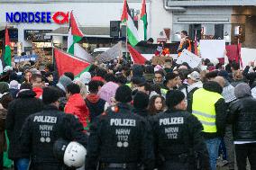
M 163 122 L 172 119 L 182 121 L 179 123 Z M 210 169 L 208 152 L 202 135 L 203 127 L 194 115 L 186 111 L 169 108 L 166 112 L 160 112 L 151 117 L 150 121 L 155 139 L 157 166 L 165 167 L 160 169 L 173 169 L 173 166 L 165 165 L 165 161 L 169 160 L 174 163 L 177 162 L 177 165 L 183 164 L 182 168 L 178 166 L 181 169 L 195 170 L 198 165 L 194 153 L 197 153 L 200 169 Z

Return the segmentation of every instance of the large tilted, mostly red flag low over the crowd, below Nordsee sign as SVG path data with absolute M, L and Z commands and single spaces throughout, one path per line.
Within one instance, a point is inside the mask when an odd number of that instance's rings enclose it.
M 54 58 L 59 76 L 62 76 L 65 72 L 72 72 L 76 77 L 79 77 L 91 67 L 87 61 L 71 56 L 60 49 L 54 48 Z

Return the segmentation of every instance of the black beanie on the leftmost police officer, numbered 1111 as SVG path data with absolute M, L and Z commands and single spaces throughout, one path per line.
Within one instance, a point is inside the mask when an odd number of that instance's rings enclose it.
M 42 102 L 44 104 L 55 103 L 59 100 L 59 89 L 53 86 L 43 88 Z

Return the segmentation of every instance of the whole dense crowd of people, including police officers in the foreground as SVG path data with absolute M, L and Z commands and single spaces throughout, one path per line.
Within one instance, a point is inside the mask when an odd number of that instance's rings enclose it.
M 215 170 L 220 157 L 229 169 L 245 170 L 247 159 L 256 169 L 255 69 L 123 58 L 79 77 L 52 64 L 5 67 L 1 168 L 6 159 L 17 170 L 78 168 L 64 165 L 64 145 L 54 151 L 63 139 L 87 148 L 86 170 Z

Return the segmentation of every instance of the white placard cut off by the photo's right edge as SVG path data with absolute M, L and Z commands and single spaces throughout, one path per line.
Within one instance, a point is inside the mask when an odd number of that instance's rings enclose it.
M 242 67 L 246 67 L 249 62 L 256 61 L 256 49 L 241 49 Z

